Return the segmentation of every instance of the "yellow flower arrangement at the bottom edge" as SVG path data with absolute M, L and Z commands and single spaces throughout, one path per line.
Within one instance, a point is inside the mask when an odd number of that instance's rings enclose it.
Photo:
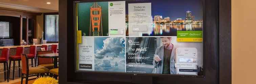
M 52 78 L 52 77 L 39 77 L 33 84 L 58 84 L 58 80 Z

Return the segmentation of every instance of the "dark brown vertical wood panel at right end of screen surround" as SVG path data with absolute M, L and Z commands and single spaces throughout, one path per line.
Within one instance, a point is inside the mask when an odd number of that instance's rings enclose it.
M 219 0 L 219 84 L 232 84 L 231 0 Z

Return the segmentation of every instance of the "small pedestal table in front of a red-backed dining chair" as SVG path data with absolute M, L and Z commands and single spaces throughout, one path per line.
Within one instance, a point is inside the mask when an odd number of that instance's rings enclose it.
M 59 53 L 48 53 L 48 54 L 39 54 L 38 57 L 42 58 L 54 58 L 54 68 L 58 68 L 57 58 L 59 57 Z

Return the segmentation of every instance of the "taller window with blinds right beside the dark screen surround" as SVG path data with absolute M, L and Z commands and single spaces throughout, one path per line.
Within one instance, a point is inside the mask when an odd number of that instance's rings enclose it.
M 59 41 L 59 15 L 45 15 L 45 40 L 47 42 Z

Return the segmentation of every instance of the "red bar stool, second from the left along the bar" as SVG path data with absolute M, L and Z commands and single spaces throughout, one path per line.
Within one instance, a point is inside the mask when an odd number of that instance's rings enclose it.
M 16 55 L 9 57 L 9 72 L 8 76 L 10 75 L 10 67 L 13 61 L 13 80 L 14 80 L 14 72 L 15 72 L 15 61 L 19 62 L 19 77 L 20 77 L 20 61 L 21 61 L 21 54 L 24 53 L 24 47 L 17 47 L 16 48 Z M 10 76 L 9 76 L 10 77 Z

